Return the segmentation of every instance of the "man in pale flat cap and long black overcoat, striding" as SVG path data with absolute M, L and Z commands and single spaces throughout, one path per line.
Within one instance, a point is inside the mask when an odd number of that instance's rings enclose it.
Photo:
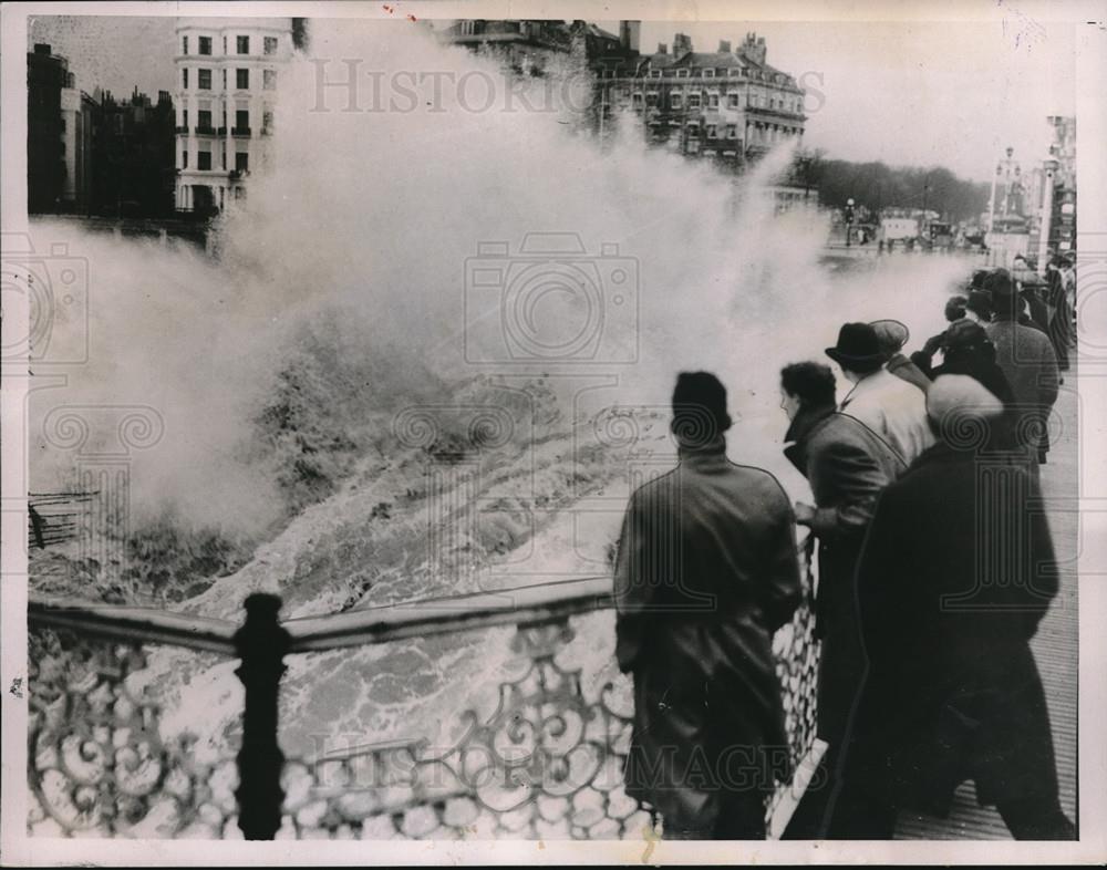
M 1057 592 L 1025 467 L 982 452 L 1003 403 L 968 375 L 928 393 L 939 443 L 883 493 L 857 570 L 868 672 L 830 836 L 889 839 L 974 779 L 1020 839 L 1070 839 L 1030 640 Z

